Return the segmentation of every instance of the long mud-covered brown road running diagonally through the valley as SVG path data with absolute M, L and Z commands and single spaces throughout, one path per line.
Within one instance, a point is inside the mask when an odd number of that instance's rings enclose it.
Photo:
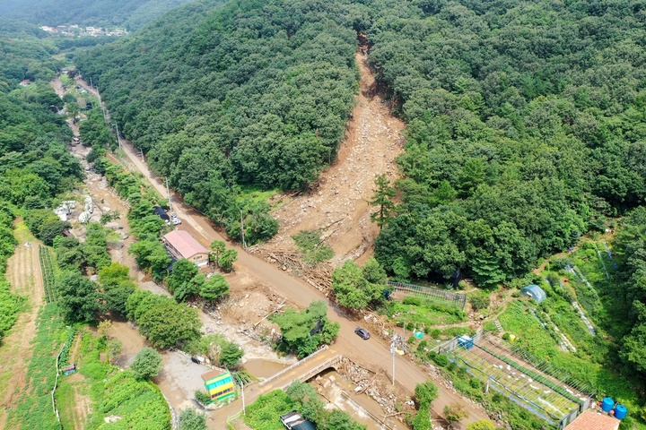
M 89 89 L 87 82 L 81 82 Z M 132 165 L 144 174 L 158 193 L 166 196 L 165 185 L 160 178 L 152 175 L 146 163 L 137 155 L 139 151 L 135 150 L 130 142 L 123 139 L 121 140 L 121 147 Z M 275 265 L 269 264 L 257 256 L 247 253 L 240 245 L 231 243 L 226 237 L 223 237 L 215 231 L 209 219 L 195 209 L 185 205 L 179 195 L 172 192 L 171 194 L 173 211 L 177 213 L 179 219 L 182 219 L 182 222 L 188 223 L 195 229 L 196 233 L 201 236 L 196 236 L 196 239 L 202 242 L 203 245 L 208 246 L 214 240 L 227 242 L 227 246 L 238 251 L 237 271 L 248 272 L 259 280 L 263 280 L 282 296 L 289 297 L 293 302 L 302 307 L 307 307 L 313 300 L 325 300 L 328 305 L 328 318 L 341 325 L 341 330 L 335 342 L 335 349 L 345 356 L 352 358 L 356 363 L 370 366 L 371 368 L 382 367 L 388 375 L 392 375 L 392 357 L 388 344 L 378 339 L 377 336 L 373 336 L 371 340 L 362 341 L 354 334 L 354 328 L 357 323 L 348 318 L 346 314 L 338 309 L 334 303 L 327 300 L 316 288 L 281 271 Z M 395 358 L 396 383 L 409 393 L 412 394 L 415 391 L 415 385 L 417 383 L 423 383 L 428 378 L 428 374 L 424 374 L 417 366 L 406 361 L 406 359 L 402 357 Z M 438 388 L 439 397 L 432 404 L 432 411 L 435 415 L 441 416 L 444 406 L 450 403 L 458 403 L 467 411 L 468 417 L 459 425 L 454 425 L 454 428 L 457 430 L 464 428 L 472 421 L 487 417 L 484 409 L 476 407 L 472 402 L 463 399 L 457 393 L 447 390 L 441 385 Z

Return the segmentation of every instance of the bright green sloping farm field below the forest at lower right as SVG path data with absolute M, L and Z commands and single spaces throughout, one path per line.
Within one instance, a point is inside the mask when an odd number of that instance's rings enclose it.
M 506 336 L 514 335 L 513 345 L 554 369 L 566 369 L 574 379 L 598 391 L 598 398 L 609 396 L 639 411 L 638 382 L 612 368 L 618 349 L 613 339 L 625 330 L 624 304 L 616 300 L 614 267 L 607 238 L 585 240 L 572 254 L 554 257 L 545 270 L 524 280 L 546 291 L 544 302 L 515 297 L 498 320 Z M 495 331 L 495 326 L 486 323 L 485 329 Z

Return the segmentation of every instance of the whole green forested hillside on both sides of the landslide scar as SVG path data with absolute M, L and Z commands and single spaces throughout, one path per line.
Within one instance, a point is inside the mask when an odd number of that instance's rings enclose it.
M 365 30 L 409 123 L 377 257 L 399 279 L 460 269 L 487 286 L 644 201 L 645 17 L 639 2 L 211 0 L 78 63 L 187 202 L 230 233 L 250 214 L 258 240 L 275 224 L 238 185 L 316 178 Z

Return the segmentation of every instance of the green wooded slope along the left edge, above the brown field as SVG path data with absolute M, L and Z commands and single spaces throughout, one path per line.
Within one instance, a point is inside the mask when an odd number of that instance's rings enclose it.
M 5 29 L 10 30 L 5 27 Z M 13 218 L 46 208 L 52 198 L 67 191 L 83 176 L 77 159 L 65 150 L 71 139 L 65 117 L 53 112 L 63 107 L 47 82 L 27 88 L 22 79 L 48 79 L 55 62 L 34 35 L 0 39 L 0 338 L 22 308 L 22 299 L 10 292 L 4 280 L 6 259 L 16 245 Z M 13 38 L 16 39 L 13 39 Z M 62 225 L 51 211 L 42 227 L 60 232 Z

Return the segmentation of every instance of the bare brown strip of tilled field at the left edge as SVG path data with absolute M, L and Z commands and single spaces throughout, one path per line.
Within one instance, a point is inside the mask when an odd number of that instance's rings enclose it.
M 11 283 L 13 293 L 25 297 L 27 312 L 19 316 L 0 347 L 0 428 L 7 428 L 5 408 L 13 408 L 25 386 L 28 362 L 24 358 L 31 357 L 36 316 L 45 296 L 38 254 L 40 242 L 31 236 L 23 223 L 16 224 L 14 235 L 18 245 L 7 263 L 6 279 Z M 25 246 L 28 242 L 31 246 Z

